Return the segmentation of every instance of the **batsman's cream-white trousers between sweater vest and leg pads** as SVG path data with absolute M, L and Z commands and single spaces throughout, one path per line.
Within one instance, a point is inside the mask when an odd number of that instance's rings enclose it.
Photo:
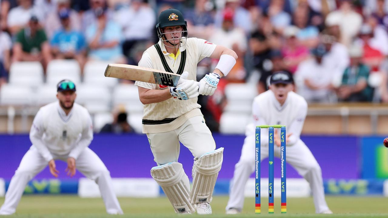
M 154 161 L 158 165 L 178 162 L 179 141 L 191 151 L 195 160 L 216 148 L 203 116 L 192 117 L 175 130 L 164 133 L 147 133 L 147 137 Z

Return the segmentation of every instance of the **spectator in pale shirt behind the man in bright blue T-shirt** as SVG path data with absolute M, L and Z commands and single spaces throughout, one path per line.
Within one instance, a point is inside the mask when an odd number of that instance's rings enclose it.
M 52 36 L 56 31 L 61 28 L 61 20 L 59 19 L 58 13 L 61 10 L 69 10 L 69 19 L 70 19 L 70 27 L 75 31 L 81 31 L 81 23 L 80 16 L 78 13 L 70 9 L 70 0 L 57 0 L 57 7 L 55 10 L 47 16 L 47 19 L 44 22 L 45 31 L 47 37 L 52 39 Z

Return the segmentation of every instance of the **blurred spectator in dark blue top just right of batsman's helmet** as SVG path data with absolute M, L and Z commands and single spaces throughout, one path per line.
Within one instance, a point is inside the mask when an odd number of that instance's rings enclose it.
M 214 14 L 209 0 L 196 0 L 194 9 L 185 11 L 187 28 L 190 35 L 197 38 L 210 38 L 214 31 Z

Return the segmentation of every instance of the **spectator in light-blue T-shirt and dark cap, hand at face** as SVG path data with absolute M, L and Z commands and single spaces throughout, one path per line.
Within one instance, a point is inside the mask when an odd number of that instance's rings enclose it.
M 125 64 L 126 61 L 120 47 L 120 25 L 109 19 L 107 11 L 101 7 L 95 9 L 95 16 L 97 22 L 86 30 L 90 48 L 89 59 Z

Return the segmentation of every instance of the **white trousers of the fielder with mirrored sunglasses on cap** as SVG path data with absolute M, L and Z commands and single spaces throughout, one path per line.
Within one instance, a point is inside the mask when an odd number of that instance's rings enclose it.
M 68 158 L 67 156 L 55 156 L 54 154 L 53 156 L 54 159 L 65 162 Z M 31 146 L 27 153 L 24 154 L 15 175 L 12 176 L 7 194 L 5 194 L 4 204 L 0 208 L 0 214 L 10 215 L 15 213 L 17 204 L 19 204 L 28 181 L 40 173 L 47 165 L 47 161 L 39 154 L 38 150 L 34 146 Z M 87 178 L 94 180 L 99 185 L 107 213 L 123 213 L 116 194 L 114 194 L 112 178 L 109 175 L 109 171 L 97 154 L 89 148 L 86 148 L 77 158 L 76 168 Z

